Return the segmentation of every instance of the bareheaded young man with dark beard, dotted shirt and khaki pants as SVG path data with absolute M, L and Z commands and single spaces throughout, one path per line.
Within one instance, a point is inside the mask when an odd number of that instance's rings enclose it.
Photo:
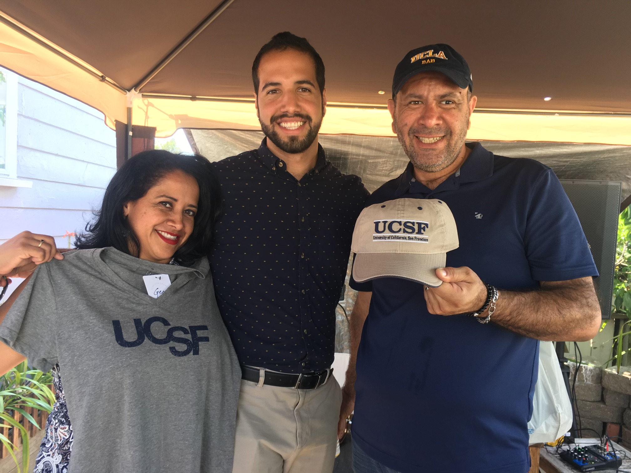
M 243 373 L 233 472 L 331 472 L 334 313 L 368 192 L 317 142 L 324 64 L 305 38 L 275 35 L 252 79 L 266 138 L 216 163 L 224 214 L 210 258 Z

